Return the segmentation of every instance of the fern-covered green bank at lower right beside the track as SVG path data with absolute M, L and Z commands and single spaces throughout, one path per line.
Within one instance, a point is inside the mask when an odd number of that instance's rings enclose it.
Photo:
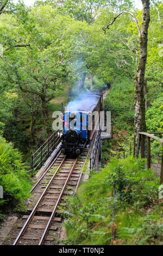
M 163 210 L 158 187 L 159 179 L 145 168 L 144 160 L 112 159 L 101 172 L 93 173 L 70 199 L 65 243 L 163 244 Z

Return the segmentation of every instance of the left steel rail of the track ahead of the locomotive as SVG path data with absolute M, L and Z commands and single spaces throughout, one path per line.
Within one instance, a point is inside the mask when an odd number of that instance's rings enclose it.
M 23 236 L 24 232 L 26 231 L 28 224 L 30 223 L 30 221 L 32 220 L 39 204 L 42 202 L 43 196 L 45 196 L 48 188 L 51 186 L 55 176 L 58 173 L 58 170 L 60 169 L 60 167 L 62 166 L 62 164 L 65 162 L 66 156 L 64 157 L 64 159 L 62 160 L 62 162 L 60 163 L 59 167 L 57 168 L 57 170 L 55 171 L 54 175 L 52 176 L 52 179 L 49 181 L 48 185 L 46 186 L 45 190 L 43 191 L 43 193 L 41 194 L 41 197 L 39 198 L 39 200 L 37 201 L 36 205 L 34 206 L 34 209 L 32 210 L 32 212 L 30 213 L 26 223 L 23 225 L 23 228 L 21 229 L 20 233 L 18 234 L 18 236 L 16 237 L 16 240 L 14 241 L 13 245 L 17 245 L 18 242 L 21 240 L 21 237 Z

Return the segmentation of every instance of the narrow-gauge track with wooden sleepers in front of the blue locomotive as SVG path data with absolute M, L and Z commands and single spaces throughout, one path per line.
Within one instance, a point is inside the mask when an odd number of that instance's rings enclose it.
M 83 154 L 76 159 L 68 159 L 61 153 L 55 157 L 53 163 L 31 190 L 34 193 L 39 186 L 45 188 L 34 208 L 30 209 L 30 215 L 23 216 L 23 220 L 26 220 L 26 222 L 23 227 L 21 226 L 22 229 L 13 245 L 43 245 L 46 240 L 52 240 L 52 236 L 49 236 L 49 231 L 57 230 L 57 225 L 55 224 L 59 219 L 61 220 L 61 218 L 55 217 L 55 214 L 64 212 L 63 210 L 58 210 L 58 206 L 66 205 L 65 200 L 68 198 L 65 197 L 65 194 L 76 193 L 91 145 L 89 145 L 89 148 L 85 148 Z M 48 179 L 50 180 L 48 181 Z M 45 186 L 46 182 L 48 184 Z M 64 203 L 61 203 L 61 201 Z M 51 206 L 53 209 L 45 208 L 44 205 Z M 46 216 L 40 216 L 42 212 L 44 214 L 47 212 Z M 38 222 L 41 222 L 41 225 L 40 223 L 38 225 Z

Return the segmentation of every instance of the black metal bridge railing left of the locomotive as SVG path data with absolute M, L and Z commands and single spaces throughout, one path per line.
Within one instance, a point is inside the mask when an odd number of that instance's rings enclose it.
M 46 162 L 48 157 L 52 154 L 54 149 L 61 141 L 61 131 L 58 129 L 44 142 L 39 149 L 31 156 L 32 173 L 34 170 L 39 169 Z

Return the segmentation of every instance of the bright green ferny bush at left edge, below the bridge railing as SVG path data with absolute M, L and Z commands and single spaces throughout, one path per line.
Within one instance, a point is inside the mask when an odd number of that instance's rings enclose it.
M 1 212 L 9 210 L 9 206 L 22 206 L 23 199 L 30 196 L 30 176 L 22 164 L 21 153 L 0 137 L 0 185 L 3 187 Z

